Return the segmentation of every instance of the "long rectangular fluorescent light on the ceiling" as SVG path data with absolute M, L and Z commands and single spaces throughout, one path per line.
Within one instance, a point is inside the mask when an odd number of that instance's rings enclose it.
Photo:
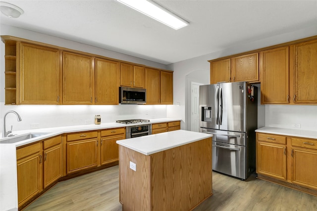
M 189 23 L 151 0 L 117 0 L 175 30 Z

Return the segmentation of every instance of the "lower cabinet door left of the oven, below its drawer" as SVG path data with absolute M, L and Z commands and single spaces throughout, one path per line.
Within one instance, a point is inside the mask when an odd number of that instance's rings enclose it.
M 125 139 L 124 134 L 101 138 L 101 165 L 119 160 L 119 145 L 117 140 Z

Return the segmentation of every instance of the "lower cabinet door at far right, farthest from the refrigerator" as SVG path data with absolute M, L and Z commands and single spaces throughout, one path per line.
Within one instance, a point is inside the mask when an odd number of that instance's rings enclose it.
M 317 189 L 317 150 L 294 148 L 291 152 L 293 162 L 292 183 Z

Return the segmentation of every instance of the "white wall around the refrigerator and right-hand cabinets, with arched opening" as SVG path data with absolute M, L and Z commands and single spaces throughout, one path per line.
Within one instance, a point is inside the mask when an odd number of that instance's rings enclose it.
M 196 58 L 180 61 L 168 65 L 168 69 L 173 70 L 173 86 L 174 86 L 174 104 L 179 103 L 180 106 L 167 108 L 167 116 L 178 115 L 180 119 L 185 121 L 186 111 L 186 76 L 196 70 L 210 70 L 208 60 L 219 57 L 232 55 L 236 53 L 246 52 L 262 47 L 279 44 L 283 42 L 294 41 L 317 35 L 317 26 L 308 27 L 300 31 L 269 37 L 263 40 L 237 43 L 229 49 L 213 52 Z M 212 37 L 212 36 L 211 36 Z M 208 76 L 205 76 L 208 77 Z M 259 86 L 260 87 L 260 86 Z M 259 88 L 260 89 L 260 88 Z M 260 93 L 260 92 L 259 92 Z M 260 97 L 260 95 L 259 95 Z M 259 99 L 260 101 L 260 99 Z M 258 127 L 287 127 L 292 128 L 289 121 L 301 123 L 301 129 L 317 130 L 317 106 L 285 106 L 278 105 L 260 105 L 258 106 Z M 292 116 L 292 117 L 289 117 Z M 285 118 L 287 117 L 287 118 Z M 282 120 L 283 119 L 283 120 Z M 288 121 L 288 120 L 289 121 Z M 181 125 L 182 129 L 186 128 L 186 122 Z

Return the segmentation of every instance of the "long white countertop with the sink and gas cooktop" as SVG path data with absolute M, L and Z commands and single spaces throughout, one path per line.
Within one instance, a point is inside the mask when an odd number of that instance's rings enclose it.
M 68 127 L 51 127 L 41 129 L 27 129 L 13 131 L 16 134 L 13 137 L 21 136 L 29 133 L 47 133 L 45 135 L 19 141 L 16 143 L 0 143 L 0 211 L 17 211 L 18 199 L 17 199 L 17 177 L 16 177 L 16 147 L 23 146 L 25 144 L 33 143 L 39 140 L 43 140 L 55 135 L 68 132 L 80 132 L 88 130 L 107 129 L 115 127 L 127 127 L 135 125 L 146 125 L 163 122 L 181 121 L 179 119 L 152 119 L 149 123 L 138 124 L 120 124 L 120 123 L 103 123 L 100 125 L 80 125 L 80 126 L 68 126 Z M 1 134 L 0 134 L 1 135 Z M 12 137 L 0 138 L 2 140 L 8 140 Z

